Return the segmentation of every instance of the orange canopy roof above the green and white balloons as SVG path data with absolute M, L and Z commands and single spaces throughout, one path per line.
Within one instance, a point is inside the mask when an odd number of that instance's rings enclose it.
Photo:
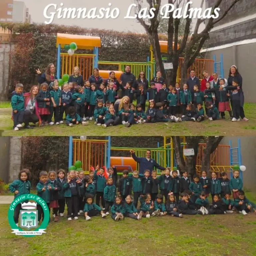
M 76 43 L 78 49 L 93 49 L 93 47 L 100 47 L 100 37 L 98 36 L 81 36 L 71 34 L 57 33 L 56 47 L 58 44 L 63 48 L 64 45 L 70 43 Z

